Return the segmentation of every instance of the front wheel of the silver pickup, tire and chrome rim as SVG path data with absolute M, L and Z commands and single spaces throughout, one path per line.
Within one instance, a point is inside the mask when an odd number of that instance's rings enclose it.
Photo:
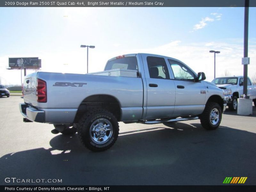
M 222 111 L 220 105 L 215 102 L 208 102 L 200 115 L 200 122 L 204 129 L 214 130 L 220 125 Z

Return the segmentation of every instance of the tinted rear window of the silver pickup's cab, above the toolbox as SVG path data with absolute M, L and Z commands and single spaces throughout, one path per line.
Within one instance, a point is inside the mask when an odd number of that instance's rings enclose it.
M 120 59 L 111 60 L 107 63 L 106 70 L 112 69 L 130 69 L 138 71 L 138 62 L 136 57 L 124 57 Z

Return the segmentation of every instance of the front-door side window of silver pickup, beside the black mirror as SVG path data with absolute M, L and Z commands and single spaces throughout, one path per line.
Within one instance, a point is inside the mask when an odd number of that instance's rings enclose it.
M 178 61 L 170 59 L 168 59 L 168 61 L 171 65 L 173 75 L 176 80 L 194 81 L 195 75 L 189 68 Z

